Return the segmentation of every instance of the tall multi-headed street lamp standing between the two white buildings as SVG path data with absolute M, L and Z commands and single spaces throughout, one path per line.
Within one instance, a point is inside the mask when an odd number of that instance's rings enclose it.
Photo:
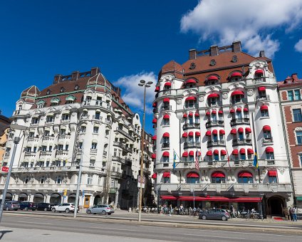
M 145 106 L 146 106 L 146 88 L 150 88 L 152 82 L 145 82 L 145 80 L 140 80 L 138 85 L 140 87 L 144 87 L 144 113 L 142 115 L 142 146 L 141 146 L 141 159 L 140 159 L 140 204 L 138 206 L 138 221 L 140 222 L 142 219 L 142 167 L 144 166 L 144 133 L 145 133 Z

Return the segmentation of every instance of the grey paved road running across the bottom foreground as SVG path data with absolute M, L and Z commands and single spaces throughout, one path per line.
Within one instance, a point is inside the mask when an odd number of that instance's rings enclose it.
M 4 214 L 2 241 L 302 241 L 302 236 Z

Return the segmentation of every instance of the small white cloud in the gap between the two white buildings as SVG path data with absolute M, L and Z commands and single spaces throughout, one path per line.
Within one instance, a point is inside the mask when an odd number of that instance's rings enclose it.
M 144 108 L 144 88 L 140 87 L 138 83 L 140 80 L 145 80 L 146 83 L 152 81 L 151 87 L 146 90 L 146 112 L 152 113 L 152 101 L 155 97 L 155 84 L 157 83 L 157 76 L 155 73 L 138 73 L 135 75 L 126 75 L 118 79 L 114 85 L 122 88 L 122 98 L 127 105 L 134 107 L 137 110 Z

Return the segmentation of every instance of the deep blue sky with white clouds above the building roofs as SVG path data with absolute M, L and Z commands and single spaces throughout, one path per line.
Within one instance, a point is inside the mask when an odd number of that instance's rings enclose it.
M 244 51 L 265 49 L 278 80 L 300 72 L 301 0 L 261 1 L 6 1 L 0 9 L 2 114 L 11 116 L 22 90 L 52 83 L 53 75 L 98 66 L 141 112 L 137 82 L 157 80 L 170 60 L 190 48 L 241 40 Z M 300 42 L 299 42 L 300 41 Z M 152 132 L 147 94 L 146 130 Z M 135 98 L 137 97 L 137 98 Z

